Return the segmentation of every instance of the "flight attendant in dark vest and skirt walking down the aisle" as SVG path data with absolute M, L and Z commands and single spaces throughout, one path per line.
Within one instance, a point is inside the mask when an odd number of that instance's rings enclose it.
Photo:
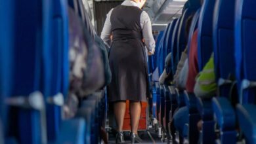
M 146 102 L 149 94 L 146 52 L 152 55 L 155 50 L 150 18 L 141 10 L 144 3 L 146 0 L 125 0 L 110 10 L 101 33 L 101 38 L 111 45 L 109 59 L 113 77 L 109 101 L 114 104 L 116 143 L 124 143 L 122 128 L 126 100 L 130 101 L 131 142 L 142 142 L 137 130 L 141 101 Z

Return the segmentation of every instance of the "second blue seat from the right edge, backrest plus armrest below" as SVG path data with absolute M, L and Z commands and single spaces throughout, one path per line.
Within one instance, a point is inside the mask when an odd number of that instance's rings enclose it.
M 217 0 L 213 16 L 213 52 L 219 98 L 213 98 L 213 111 L 221 130 L 221 143 L 236 143 L 236 115 L 230 101 L 235 77 L 234 59 L 235 1 Z

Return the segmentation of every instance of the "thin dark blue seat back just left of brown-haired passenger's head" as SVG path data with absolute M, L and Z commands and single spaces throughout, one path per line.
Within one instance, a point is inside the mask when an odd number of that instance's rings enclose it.
M 175 27 L 173 29 L 173 37 L 172 37 L 172 43 L 171 43 L 171 67 L 173 72 L 176 71 L 176 63 L 177 63 L 177 39 L 178 39 L 178 30 L 179 30 L 179 24 L 180 24 L 181 18 L 178 18 Z

